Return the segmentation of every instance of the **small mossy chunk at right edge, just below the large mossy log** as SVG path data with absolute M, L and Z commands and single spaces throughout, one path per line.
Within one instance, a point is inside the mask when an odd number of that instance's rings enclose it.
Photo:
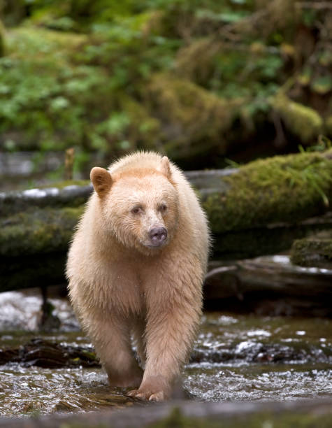
M 291 262 L 332 269 L 332 239 L 304 238 L 291 246 Z

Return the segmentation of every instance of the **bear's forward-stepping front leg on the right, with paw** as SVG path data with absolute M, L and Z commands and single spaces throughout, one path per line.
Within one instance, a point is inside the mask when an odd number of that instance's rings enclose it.
M 138 390 L 129 392 L 131 397 L 151 401 L 168 399 L 196 336 L 201 290 L 179 287 L 168 292 L 166 299 L 165 294 L 165 290 L 159 294 L 159 301 L 153 299 L 147 311 L 145 372 Z

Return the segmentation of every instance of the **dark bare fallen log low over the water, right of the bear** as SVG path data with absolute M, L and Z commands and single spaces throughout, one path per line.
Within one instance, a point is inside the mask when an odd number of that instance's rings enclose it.
M 332 316 L 329 269 L 295 266 L 286 255 L 212 262 L 204 285 L 205 308 L 257 315 Z

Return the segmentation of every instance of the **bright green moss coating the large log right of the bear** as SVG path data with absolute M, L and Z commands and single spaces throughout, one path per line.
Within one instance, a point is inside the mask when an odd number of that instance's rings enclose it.
M 324 154 L 258 160 L 222 180 L 229 190 L 202 198 L 215 233 L 295 224 L 325 213 L 332 199 L 332 162 Z

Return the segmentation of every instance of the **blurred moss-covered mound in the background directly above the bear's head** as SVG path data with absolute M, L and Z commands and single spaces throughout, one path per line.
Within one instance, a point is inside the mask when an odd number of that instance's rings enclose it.
M 234 104 L 168 74 L 154 75 L 145 90 L 151 112 L 159 118 L 164 148 L 173 158 L 191 157 L 218 146 L 234 118 Z

